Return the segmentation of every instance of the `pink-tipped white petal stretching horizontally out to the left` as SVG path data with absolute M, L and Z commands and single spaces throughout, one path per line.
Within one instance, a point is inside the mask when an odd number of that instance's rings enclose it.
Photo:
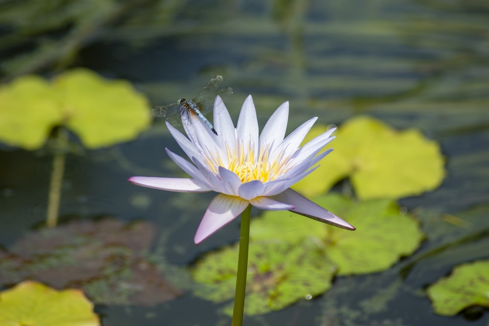
M 143 187 L 175 192 L 208 192 L 203 183 L 188 178 L 131 177 L 127 181 Z

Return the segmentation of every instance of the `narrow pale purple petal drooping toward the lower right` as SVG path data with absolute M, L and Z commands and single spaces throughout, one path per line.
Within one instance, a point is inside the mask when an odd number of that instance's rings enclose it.
M 282 203 L 294 205 L 295 208 L 290 209 L 291 212 L 307 216 L 319 222 L 332 224 L 334 226 L 338 226 L 348 230 L 355 230 L 355 227 L 352 224 L 343 221 L 330 211 L 324 209 L 318 204 L 311 202 L 309 199 L 292 189 L 287 189 L 286 191 L 276 196 L 273 196 L 272 199 Z

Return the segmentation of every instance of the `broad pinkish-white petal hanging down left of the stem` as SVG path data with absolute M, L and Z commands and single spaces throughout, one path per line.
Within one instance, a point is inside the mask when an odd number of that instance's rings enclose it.
M 195 244 L 199 245 L 222 226 L 231 222 L 244 211 L 248 204 L 248 201 L 239 197 L 217 195 L 207 207 L 202 221 L 200 221 L 194 237 Z

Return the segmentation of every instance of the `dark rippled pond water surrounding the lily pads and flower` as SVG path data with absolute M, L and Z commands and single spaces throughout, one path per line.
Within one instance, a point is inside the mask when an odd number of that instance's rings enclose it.
M 350 117 L 369 115 L 395 128 L 419 128 L 441 144 L 444 183 L 399 201 L 418 212 L 431 236 L 413 257 L 384 272 L 336 278 L 324 295 L 246 317 L 245 325 L 488 325 L 489 313 L 483 309 L 455 317 L 435 315 L 423 292 L 455 265 L 489 258 L 487 2 L 101 3 L 113 17 L 106 13 L 103 23 L 94 20 L 92 29 L 82 28 L 85 34 L 74 34 L 76 46 L 51 60 L 44 60 L 49 56 L 35 47 L 1 43 L 8 50 L 0 57 L 4 79 L 83 66 L 129 80 L 153 105 L 162 105 L 192 95 L 211 77 L 222 75 L 224 85 L 234 89 L 224 99 L 234 121 L 244 98 L 252 94 L 262 127 L 273 110 L 290 101 L 289 132 L 313 116 L 323 124 L 341 125 Z M 26 4 L 26 13 L 33 10 L 29 6 L 33 4 Z M 74 26 L 91 26 L 82 18 Z M 58 26 L 56 33 L 66 36 L 71 27 Z M 2 35 L 7 40 L 8 33 Z M 27 58 L 24 65 L 13 60 L 21 55 Z M 215 194 L 183 195 L 127 182 L 133 175 L 182 176 L 165 147 L 184 155 L 160 119 L 131 142 L 68 155 L 62 221 L 108 216 L 150 222 L 157 229 L 151 251 L 170 269 L 236 242 L 239 219 L 201 245 L 193 243 Z M 43 224 L 51 161 L 46 151 L 2 145 L 0 246 L 9 248 Z M 448 215 L 463 218 L 468 226 L 447 223 L 443 216 Z M 169 278 L 185 288 L 186 279 Z M 156 306 L 98 305 L 96 311 L 104 326 L 229 325 L 219 307 L 183 290 L 177 299 Z

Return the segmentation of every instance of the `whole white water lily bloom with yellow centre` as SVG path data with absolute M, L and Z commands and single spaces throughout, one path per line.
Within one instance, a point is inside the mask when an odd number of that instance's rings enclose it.
M 168 148 L 166 152 L 191 178 L 131 177 L 128 180 L 175 192 L 218 192 L 200 222 L 194 238 L 196 244 L 231 222 L 249 204 L 261 209 L 289 210 L 355 230 L 351 224 L 290 188 L 311 173 L 331 151 L 321 152 L 334 139 L 331 136 L 334 128 L 300 147 L 317 117 L 285 137 L 289 119 L 289 102 L 285 102 L 259 135 L 251 95 L 243 103 L 236 127 L 221 98 L 216 98 L 214 127 L 218 135 L 199 118 L 190 115 L 190 119 L 191 123 L 183 123 L 188 138 L 168 122 L 167 127 L 193 164 Z

